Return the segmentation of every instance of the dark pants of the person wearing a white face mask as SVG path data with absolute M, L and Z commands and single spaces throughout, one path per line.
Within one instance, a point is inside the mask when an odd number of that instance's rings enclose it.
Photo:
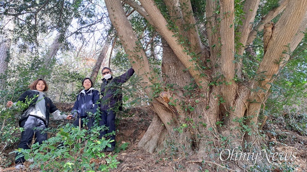
M 102 138 L 105 134 L 109 134 L 112 132 L 115 132 L 115 116 L 116 114 L 113 112 L 113 110 L 101 110 L 101 120 L 99 121 L 100 126 L 105 126 L 108 129 L 102 131 L 100 133 L 100 138 Z M 115 146 L 115 134 L 112 134 L 111 136 L 108 136 L 111 140 L 114 140 L 110 144 L 112 146 Z

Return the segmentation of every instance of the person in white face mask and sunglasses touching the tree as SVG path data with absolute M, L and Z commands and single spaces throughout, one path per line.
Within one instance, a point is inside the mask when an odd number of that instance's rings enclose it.
M 113 142 L 110 142 L 111 148 L 106 148 L 105 151 L 112 152 L 115 149 L 115 112 L 117 110 L 122 110 L 122 94 L 121 85 L 128 81 L 128 79 L 133 76 L 134 69 L 131 67 L 123 75 L 113 78 L 112 70 L 108 67 L 103 67 L 102 70 L 102 84 L 101 84 L 101 95 L 100 100 L 100 112 L 101 121 L 100 126 L 107 127 L 100 133 L 100 138 L 104 135 L 108 135 Z

